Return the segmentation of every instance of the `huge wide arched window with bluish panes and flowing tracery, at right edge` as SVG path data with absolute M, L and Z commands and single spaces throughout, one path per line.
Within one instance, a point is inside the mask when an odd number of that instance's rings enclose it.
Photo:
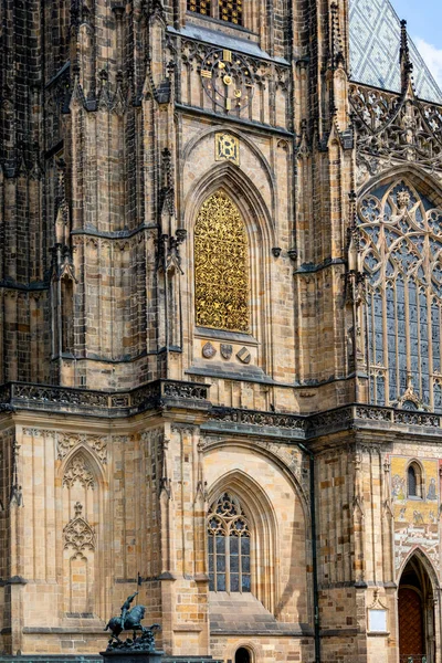
M 442 411 L 442 209 L 407 181 L 359 204 L 370 400 Z

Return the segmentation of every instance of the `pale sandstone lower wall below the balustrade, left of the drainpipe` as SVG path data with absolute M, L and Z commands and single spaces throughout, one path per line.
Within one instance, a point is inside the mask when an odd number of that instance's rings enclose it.
M 313 610 L 299 451 L 220 443 L 194 424 L 146 423 L 125 435 L 98 421 L 92 432 L 88 422 L 43 417 L 4 431 L 3 454 L 15 453 L 4 467 L 20 484 L 12 483 L 12 498 L 4 495 L 1 540 L 10 546 L 12 580 L 2 590 L 2 648 L 95 653 L 139 577 L 138 601 L 147 621 L 161 623 L 166 651 L 207 654 L 207 512 L 218 493 L 231 491 L 253 524 L 256 606 L 272 628 L 297 632 L 287 641 L 297 651 Z M 9 487 L 11 476 L 4 481 Z M 213 652 L 219 656 L 215 645 Z

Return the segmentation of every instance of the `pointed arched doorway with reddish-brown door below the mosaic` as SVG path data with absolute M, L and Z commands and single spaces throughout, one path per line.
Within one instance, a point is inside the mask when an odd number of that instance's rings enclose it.
M 398 591 L 400 663 L 434 663 L 434 600 L 430 577 L 414 555 Z

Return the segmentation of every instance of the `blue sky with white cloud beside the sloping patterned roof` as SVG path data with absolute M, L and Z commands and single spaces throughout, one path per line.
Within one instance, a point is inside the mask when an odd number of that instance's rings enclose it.
M 442 1 L 390 0 L 442 90 Z

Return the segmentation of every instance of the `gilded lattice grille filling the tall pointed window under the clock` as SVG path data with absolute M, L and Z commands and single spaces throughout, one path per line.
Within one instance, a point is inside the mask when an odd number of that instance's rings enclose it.
M 245 225 L 222 191 L 201 206 L 194 225 L 196 323 L 249 332 L 249 246 Z

